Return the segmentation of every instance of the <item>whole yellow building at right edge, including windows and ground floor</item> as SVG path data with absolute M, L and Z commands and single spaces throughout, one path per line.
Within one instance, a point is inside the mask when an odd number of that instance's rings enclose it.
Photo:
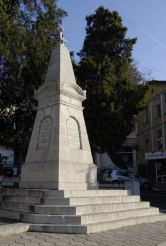
M 166 81 L 152 80 L 138 114 L 137 167 L 155 183 L 166 183 Z

